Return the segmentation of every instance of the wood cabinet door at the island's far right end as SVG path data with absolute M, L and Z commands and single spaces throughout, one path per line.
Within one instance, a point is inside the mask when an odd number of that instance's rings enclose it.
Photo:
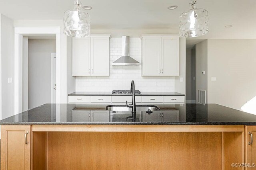
M 246 156 L 245 162 L 246 170 L 255 170 L 256 169 L 256 126 L 246 126 L 245 131 L 245 145 L 246 145 Z M 253 167 L 254 166 L 254 167 Z

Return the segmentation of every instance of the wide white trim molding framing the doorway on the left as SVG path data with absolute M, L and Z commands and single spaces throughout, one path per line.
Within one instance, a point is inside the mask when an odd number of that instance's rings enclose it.
M 14 115 L 22 112 L 22 39 L 56 35 L 56 103 L 60 103 L 60 27 L 14 27 Z

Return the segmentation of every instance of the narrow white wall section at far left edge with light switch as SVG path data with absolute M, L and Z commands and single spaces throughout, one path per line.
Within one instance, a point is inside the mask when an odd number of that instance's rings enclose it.
M 1 118 L 13 115 L 13 83 L 8 83 L 8 78 L 13 78 L 13 20 L 0 14 L 1 23 Z

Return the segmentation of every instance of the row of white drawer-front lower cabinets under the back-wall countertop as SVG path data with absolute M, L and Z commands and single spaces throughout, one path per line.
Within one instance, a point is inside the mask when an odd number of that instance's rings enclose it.
M 74 104 L 128 104 L 132 96 L 68 96 L 68 102 Z M 185 96 L 135 96 L 136 104 L 184 104 Z

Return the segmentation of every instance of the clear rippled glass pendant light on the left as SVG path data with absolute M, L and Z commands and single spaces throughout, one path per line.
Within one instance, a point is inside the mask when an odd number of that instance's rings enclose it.
M 75 0 L 74 8 L 64 13 L 64 34 L 70 37 L 90 36 L 91 21 L 90 16 L 81 7 L 79 0 Z

